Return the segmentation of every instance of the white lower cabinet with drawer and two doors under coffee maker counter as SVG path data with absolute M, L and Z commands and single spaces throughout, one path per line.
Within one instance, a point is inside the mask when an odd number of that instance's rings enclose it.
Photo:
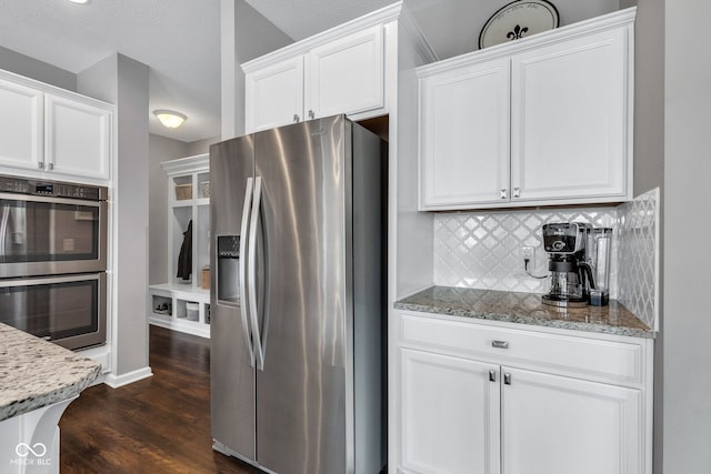
M 395 314 L 391 473 L 651 473 L 651 340 Z

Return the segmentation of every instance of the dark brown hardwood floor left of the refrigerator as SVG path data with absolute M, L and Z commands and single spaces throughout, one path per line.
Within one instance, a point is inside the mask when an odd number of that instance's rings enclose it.
M 62 474 L 260 473 L 212 451 L 209 340 L 151 326 L 150 366 L 150 379 L 96 385 L 69 405 Z

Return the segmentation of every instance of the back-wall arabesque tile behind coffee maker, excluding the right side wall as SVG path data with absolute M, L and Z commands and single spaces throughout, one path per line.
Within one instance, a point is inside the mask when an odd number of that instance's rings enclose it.
M 534 249 L 530 273 L 548 275 L 541 226 L 548 222 L 587 222 L 612 228 L 610 295 L 617 297 L 618 211 L 615 208 L 547 209 L 440 213 L 434 216 L 434 284 L 480 290 L 545 293 L 549 279 L 523 272 L 521 246 Z

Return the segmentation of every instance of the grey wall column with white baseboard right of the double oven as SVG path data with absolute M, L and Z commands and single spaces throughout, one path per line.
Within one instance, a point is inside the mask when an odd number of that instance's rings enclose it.
M 116 359 L 110 385 L 150 375 L 148 366 L 148 65 L 112 54 L 78 74 L 78 91 L 117 105 L 113 165 Z M 118 225 L 120 223 L 120 225 Z

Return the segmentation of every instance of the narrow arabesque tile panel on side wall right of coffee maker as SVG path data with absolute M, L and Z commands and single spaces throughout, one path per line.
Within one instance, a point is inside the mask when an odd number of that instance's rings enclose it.
M 659 188 L 620 205 L 618 299 L 659 330 Z

